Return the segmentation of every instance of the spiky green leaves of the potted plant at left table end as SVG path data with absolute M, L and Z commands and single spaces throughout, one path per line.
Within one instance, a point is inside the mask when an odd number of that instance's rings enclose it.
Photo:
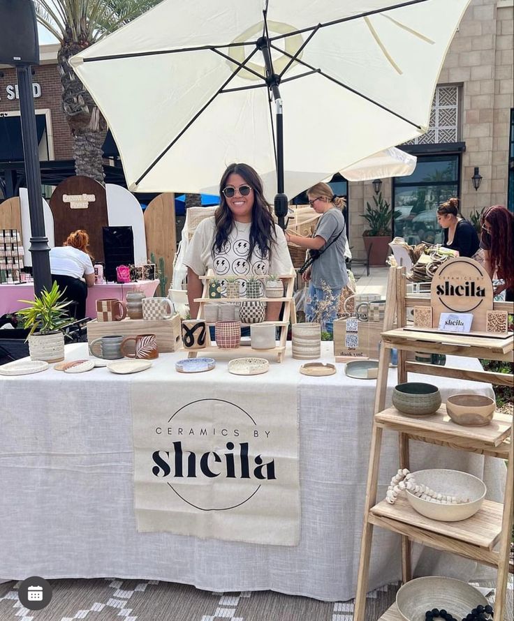
M 24 327 L 30 328 L 29 336 L 37 330 L 41 334 L 47 334 L 54 330 L 62 330 L 73 323 L 65 310 L 71 301 L 64 301 L 64 291 L 59 290 L 57 283 L 52 285 L 52 289 L 43 289 L 41 294 L 34 300 L 20 300 L 30 304 L 27 308 L 17 310 L 17 315 L 21 315 L 24 320 Z

